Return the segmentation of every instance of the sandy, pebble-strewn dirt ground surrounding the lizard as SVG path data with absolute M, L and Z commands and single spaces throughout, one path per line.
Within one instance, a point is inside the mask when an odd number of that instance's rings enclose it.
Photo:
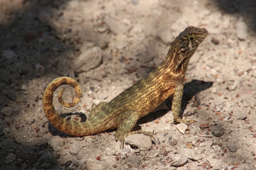
M 255 8 L 254 0 L 1 0 L 0 169 L 255 168 Z M 168 100 L 168 110 L 138 122 L 157 139 L 147 151 L 120 148 L 115 130 L 73 137 L 48 122 L 42 95 L 54 78 L 79 82 L 78 106 L 54 101 L 64 117 L 85 120 L 154 69 L 189 25 L 209 34 L 186 74 L 182 113 L 195 122 L 184 134 L 170 124 Z M 77 73 L 76 59 L 95 46 L 100 65 Z M 72 88 L 64 93 L 74 97 Z M 178 154 L 188 161 L 171 166 Z

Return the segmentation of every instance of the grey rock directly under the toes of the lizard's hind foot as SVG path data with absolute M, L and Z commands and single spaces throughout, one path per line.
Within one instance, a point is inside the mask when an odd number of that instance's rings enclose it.
M 135 146 L 141 151 L 149 151 L 152 147 L 152 141 L 149 136 L 143 134 L 134 134 L 124 139 L 125 143 Z

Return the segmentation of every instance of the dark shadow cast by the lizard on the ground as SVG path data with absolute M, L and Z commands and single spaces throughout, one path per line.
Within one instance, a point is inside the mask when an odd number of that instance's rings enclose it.
M 187 104 L 189 103 L 189 101 L 194 97 L 194 104 L 197 106 L 200 104 L 200 100 L 199 100 L 199 97 L 197 96 L 197 94 L 205 89 L 208 89 L 210 88 L 211 86 L 213 85 L 213 82 L 205 82 L 205 81 L 199 81 L 199 80 L 192 80 L 188 83 L 185 83 L 184 84 L 184 90 L 183 90 L 183 95 L 182 95 L 182 102 L 181 102 L 181 115 L 180 116 L 184 116 L 184 110 L 187 106 Z M 151 121 L 154 121 L 162 116 L 164 116 L 167 112 L 169 112 L 171 110 L 171 106 L 172 106 L 172 96 L 165 100 L 165 104 L 167 107 L 165 107 L 164 109 L 163 108 L 156 108 L 153 112 L 149 113 L 148 115 L 142 117 L 141 119 L 138 120 L 138 122 L 136 123 L 135 127 L 133 128 L 133 130 L 141 130 L 141 126 L 140 124 L 144 124 L 144 123 L 148 123 L 148 122 L 151 122 Z M 160 105 L 161 107 L 161 105 Z M 66 118 L 67 120 L 70 120 L 72 115 L 75 115 L 77 116 L 77 118 L 80 118 L 81 119 L 81 122 L 84 122 L 86 121 L 87 119 L 87 116 L 82 113 L 82 112 L 76 112 L 76 113 L 64 113 L 64 114 L 61 114 L 61 116 L 63 118 Z M 68 135 L 68 134 L 65 134 L 64 132 L 61 132 L 59 131 L 58 129 L 56 129 L 50 122 L 49 122 L 49 132 L 54 135 L 54 136 L 69 136 L 69 137 L 72 137 L 72 135 Z M 104 132 L 113 132 L 115 131 L 116 129 L 108 129 Z M 100 132 L 102 133 L 102 132 Z M 100 134 L 99 133 L 99 134 Z M 74 136 L 75 137 L 75 136 Z

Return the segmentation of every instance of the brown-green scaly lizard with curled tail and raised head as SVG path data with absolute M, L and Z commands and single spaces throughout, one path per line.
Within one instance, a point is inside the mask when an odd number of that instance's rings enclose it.
M 47 86 L 43 97 L 43 109 L 48 120 L 58 130 L 73 136 L 87 136 L 117 128 L 115 140 L 121 141 L 122 146 L 125 137 L 136 133 L 150 136 L 155 141 L 154 135 L 150 131 L 132 130 L 138 119 L 152 112 L 173 95 L 173 121 L 188 124 L 191 120 L 183 120 L 179 117 L 185 73 L 189 59 L 207 35 L 208 31 L 205 28 L 194 26 L 185 28 L 174 39 L 166 57 L 159 66 L 108 103 L 100 102 L 91 110 L 88 119 L 84 122 L 69 121 L 61 117 L 53 105 L 54 91 L 59 86 L 68 84 L 75 89 L 73 101 L 67 103 L 62 99 L 64 88 L 60 90 L 58 100 L 62 106 L 75 106 L 82 96 L 77 81 L 70 77 L 54 79 Z

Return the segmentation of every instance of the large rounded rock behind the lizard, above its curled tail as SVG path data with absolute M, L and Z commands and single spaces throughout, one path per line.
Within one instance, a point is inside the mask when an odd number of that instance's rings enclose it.
M 102 56 L 99 47 L 93 47 L 80 54 L 74 61 L 76 73 L 87 72 L 101 64 Z

